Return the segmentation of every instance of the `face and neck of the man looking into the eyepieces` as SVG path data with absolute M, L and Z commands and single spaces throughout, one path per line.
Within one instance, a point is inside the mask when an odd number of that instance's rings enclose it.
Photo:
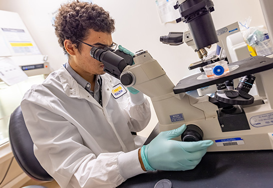
M 89 31 L 87 39 L 83 42 L 95 47 L 109 47 L 113 44 L 111 34 L 95 32 L 94 30 Z M 91 49 L 92 47 L 82 43 L 81 51 L 77 50 L 75 56 L 72 56 L 69 61 L 70 66 L 86 80 L 89 80 L 92 75 L 105 73 L 103 63 L 90 56 Z

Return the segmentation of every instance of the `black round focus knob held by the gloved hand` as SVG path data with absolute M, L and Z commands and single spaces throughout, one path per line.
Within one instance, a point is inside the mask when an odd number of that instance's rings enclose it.
M 182 133 L 181 140 L 184 142 L 203 140 L 203 131 L 197 125 L 189 124 Z

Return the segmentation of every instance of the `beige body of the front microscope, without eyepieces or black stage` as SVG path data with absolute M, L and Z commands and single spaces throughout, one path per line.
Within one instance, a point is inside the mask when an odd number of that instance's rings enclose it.
M 252 63 L 245 65 L 249 61 Z M 221 83 L 225 79 L 238 78 L 245 74 L 246 67 L 263 61 L 266 61 L 265 68 L 255 67 L 252 71 L 264 70 L 254 73 L 259 92 L 259 95 L 254 96 L 254 102 L 249 105 L 235 105 L 240 113 L 227 113 L 222 117 L 219 115 L 221 108 L 213 103 L 210 97 L 195 98 L 186 94 L 186 91 L 192 87 L 198 88 L 200 86 L 199 83 L 195 84 L 195 81 L 192 80 L 197 80 L 198 75 L 200 77 L 204 73 L 193 75 L 192 78 L 185 78 L 174 86 L 159 63 L 147 51 L 142 51 L 135 55 L 135 64 L 127 66 L 121 77 L 125 73 L 134 75 L 130 86 L 151 98 L 158 117 L 160 131 L 175 129 L 183 124 L 195 125 L 201 129 L 203 140 L 214 141 L 208 151 L 272 149 L 273 87 L 270 82 L 273 78 L 273 59 L 257 57 L 254 60 L 234 62 L 242 67 L 242 72 L 238 68 L 234 74 L 231 72 L 232 74 L 228 73 L 220 78 L 208 79 L 208 82 L 202 80 L 201 85 Z M 189 84 L 185 84 L 186 82 Z M 182 140 L 183 138 L 177 137 L 175 139 Z

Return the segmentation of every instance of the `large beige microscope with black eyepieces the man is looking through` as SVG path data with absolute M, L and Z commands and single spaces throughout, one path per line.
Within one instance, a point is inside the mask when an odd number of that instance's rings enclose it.
M 179 9 L 181 21 L 189 26 L 198 56 L 204 57 L 204 48 L 219 42 L 210 15 L 214 11 L 212 1 L 178 1 L 175 8 Z M 183 42 L 181 33 L 173 34 L 169 41 L 166 38 L 161 41 L 172 44 L 178 39 Z M 136 52 L 134 64 L 118 50 L 92 48 L 90 55 L 103 62 L 105 72 L 120 79 L 124 86 L 134 87 L 151 98 L 160 131 L 186 124 L 187 129 L 176 140 L 213 140 L 208 151 L 273 149 L 272 58 L 250 57 L 248 53 L 248 57 L 241 60 L 239 53 L 232 56 L 240 57 L 238 60 L 229 58 L 229 72 L 225 74 L 207 78 L 201 72 L 174 85 L 148 51 Z M 232 80 L 238 78 L 240 82 L 234 87 Z M 254 82 L 258 94 L 252 96 L 249 90 Z M 193 97 L 186 93 L 214 84 L 217 85 L 214 97 Z

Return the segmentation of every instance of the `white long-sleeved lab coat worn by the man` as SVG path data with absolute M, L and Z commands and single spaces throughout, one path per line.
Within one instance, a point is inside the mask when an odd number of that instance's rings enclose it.
M 118 79 L 101 77 L 103 107 L 63 66 L 22 100 L 35 155 L 61 187 L 116 187 L 144 173 L 131 131 L 148 124 L 149 102 Z M 123 93 L 115 98 L 117 85 Z

